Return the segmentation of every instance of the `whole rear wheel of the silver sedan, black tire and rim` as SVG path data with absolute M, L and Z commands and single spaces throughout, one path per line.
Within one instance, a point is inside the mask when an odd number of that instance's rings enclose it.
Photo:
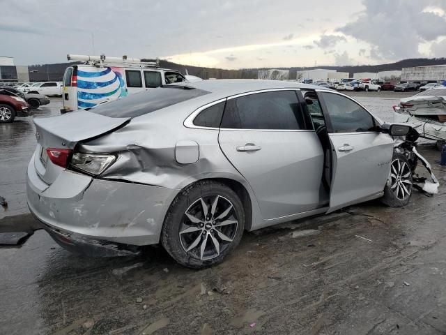
M 204 217 L 203 202 L 208 218 Z M 223 215 L 228 208 L 231 209 Z M 201 218 L 203 222 L 194 223 L 190 218 Z M 219 223 L 224 225 L 219 226 Z M 186 229 L 192 231 L 185 233 Z M 178 263 L 199 269 L 222 262 L 238 246 L 244 229 L 245 212 L 238 195 L 224 184 L 199 181 L 185 188 L 172 202 L 164 218 L 161 243 Z M 226 241 L 226 237 L 231 241 Z M 204 252 L 201 251 L 203 244 Z M 219 245 L 218 253 L 215 244 Z

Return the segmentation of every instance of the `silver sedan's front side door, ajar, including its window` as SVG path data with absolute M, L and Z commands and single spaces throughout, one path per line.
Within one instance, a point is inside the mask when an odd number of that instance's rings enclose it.
M 378 121 L 351 98 L 321 91 L 318 96 L 332 146 L 328 212 L 378 198 L 389 176 L 394 140 L 376 131 Z

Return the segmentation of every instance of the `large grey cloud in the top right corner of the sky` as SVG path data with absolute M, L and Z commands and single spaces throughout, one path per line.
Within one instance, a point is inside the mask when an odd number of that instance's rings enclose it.
M 376 59 L 420 57 L 420 43 L 446 34 L 444 0 L 362 0 L 365 9 L 357 19 L 337 31 L 371 45 L 370 55 Z M 436 4 L 438 10 L 424 11 Z M 437 7 L 436 7 L 437 8 Z

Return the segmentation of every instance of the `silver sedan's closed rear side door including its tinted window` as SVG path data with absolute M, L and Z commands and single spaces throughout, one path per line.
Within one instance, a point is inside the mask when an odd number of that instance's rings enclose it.
M 249 182 L 263 218 L 320 206 L 323 151 L 309 123 L 293 90 L 228 98 L 220 147 Z

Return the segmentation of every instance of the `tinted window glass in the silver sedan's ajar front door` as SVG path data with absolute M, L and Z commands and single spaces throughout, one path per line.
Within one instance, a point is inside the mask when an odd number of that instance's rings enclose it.
M 321 94 L 330 116 L 332 133 L 374 131 L 374 118 L 360 105 L 339 94 Z

